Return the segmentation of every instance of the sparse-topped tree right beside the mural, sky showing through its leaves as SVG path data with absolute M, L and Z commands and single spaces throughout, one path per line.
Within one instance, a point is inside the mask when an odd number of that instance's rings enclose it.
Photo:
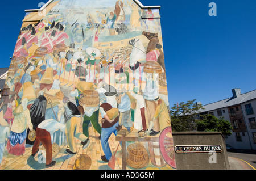
M 189 100 L 187 103 L 181 102 L 177 105 L 174 104 L 174 107 L 171 107 L 170 116 L 173 131 L 196 130 L 196 120 L 198 119 L 200 110 L 204 108 L 201 104 L 195 103 L 195 100 Z

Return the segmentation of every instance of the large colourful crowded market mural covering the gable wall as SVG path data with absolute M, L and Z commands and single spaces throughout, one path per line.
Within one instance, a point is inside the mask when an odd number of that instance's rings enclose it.
M 16 42 L 0 168 L 23 158 L 11 169 L 175 169 L 159 9 L 51 4 Z

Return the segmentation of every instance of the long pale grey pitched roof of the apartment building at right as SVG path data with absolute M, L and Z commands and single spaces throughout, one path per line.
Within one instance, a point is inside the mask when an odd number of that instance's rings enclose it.
M 242 104 L 242 103 L 245 103 L 245 102 L 253 100 L 253 99 L 256 99 L 256 90 L 246 92 L 244 94 L 240 94 L 237 97 L 231 97 L 228 99 L 220 100 L 218 102 L 204 105 L 203 107 L 205 109 L 201 110 L 201 112 L 207 112 L 207 111 L 217 110 L 217 109 L 224 108 L 224 107 L 235 106 L 235 105 Z

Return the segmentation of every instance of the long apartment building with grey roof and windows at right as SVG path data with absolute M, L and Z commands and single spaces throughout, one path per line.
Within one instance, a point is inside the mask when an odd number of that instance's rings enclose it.
M 232 89 L 233 96 L 218 102 L 204 105 L 200 115 L 211 114 L 224 117 L 232 124 L 231 136 L 226 136 L 226 144 L 235 149 L 256 149 L 256 90 L 241 93 L 241 89 Z

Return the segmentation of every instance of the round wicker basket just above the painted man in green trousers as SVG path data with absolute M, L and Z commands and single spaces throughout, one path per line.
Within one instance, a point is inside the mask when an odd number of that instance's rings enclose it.
M 96 107 L 100 104 L 100 96 L 98 95 L 98 92 L 94 90 L 82 91 L 79 104 L 85 104 L 86 107 Z

